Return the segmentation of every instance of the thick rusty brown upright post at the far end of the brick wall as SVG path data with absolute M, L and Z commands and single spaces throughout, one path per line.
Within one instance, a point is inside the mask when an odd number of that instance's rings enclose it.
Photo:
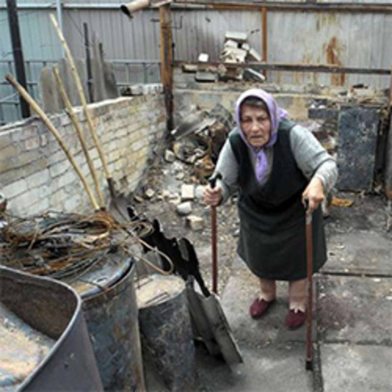
M 160 47 L 161 47 L 161 80 L 165 94 L 166 127 L 173 129 L 173 48 L 172 48 L 172 11 L 170 4 L 159 7 Z

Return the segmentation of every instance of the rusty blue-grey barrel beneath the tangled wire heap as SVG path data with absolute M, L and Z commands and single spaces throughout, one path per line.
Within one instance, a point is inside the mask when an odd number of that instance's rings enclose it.
M 105 391 L 145 391 L 132 258 L 112 254 L 77 285 Z

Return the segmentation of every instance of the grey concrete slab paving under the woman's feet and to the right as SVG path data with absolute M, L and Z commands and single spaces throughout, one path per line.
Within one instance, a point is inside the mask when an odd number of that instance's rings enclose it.
M 257 279 L 236 260 L 221 304 L 244 364 L 230 370 L 218 360 L 198 358 L 204 390 L 392 391 L 392 233 L 386 231 L 385 201 L 346 197 L 355 203 L 332 209 L 326 221 L 328 262 L 314 277 L 315 371 L 304 368 L 305 328 L 284 326 L 287 283 L 279 282 L 268 314 L 253 320 L 248 308 L 258 292 Z

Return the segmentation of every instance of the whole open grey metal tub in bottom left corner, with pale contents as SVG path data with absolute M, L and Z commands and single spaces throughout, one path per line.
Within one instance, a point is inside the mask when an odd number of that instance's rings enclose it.
M 0 266 L 0 391 L 102 391 L 81 304 L 64 283 Z

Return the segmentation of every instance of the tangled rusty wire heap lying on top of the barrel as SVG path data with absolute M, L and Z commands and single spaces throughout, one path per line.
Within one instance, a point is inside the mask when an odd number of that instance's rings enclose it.
M 48 212 L 29 218 L 3 215 L 0 264 L 55 279 L 80 278 L 110 253 L 132 254 L 145 222 L 117 223 L 104 211 L 91 215 Z

